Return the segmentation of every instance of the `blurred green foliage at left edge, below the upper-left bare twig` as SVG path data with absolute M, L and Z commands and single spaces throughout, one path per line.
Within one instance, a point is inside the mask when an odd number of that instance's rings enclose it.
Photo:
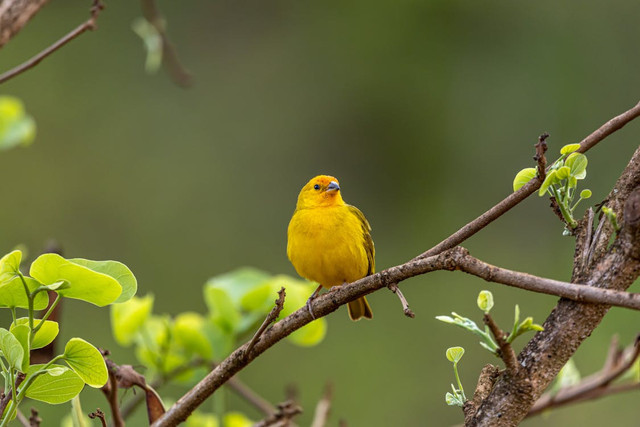
M 29 145 L 36 136 L 36 122 L 24 111 L 22 101 L 0 96 L 0 150 Z

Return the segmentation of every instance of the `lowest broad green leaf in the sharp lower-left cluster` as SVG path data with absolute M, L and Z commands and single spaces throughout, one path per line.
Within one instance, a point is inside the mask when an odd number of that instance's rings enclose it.
M 35 375 L 45 365 L 31 365 L 27 372 L 29 377 Z M 45 373 L 38 375 L 27 389 L 26 396 L 41 402 L 59 404 L 68 402 L 84 388 L 84 381 L 66 366 L 52 365 Z

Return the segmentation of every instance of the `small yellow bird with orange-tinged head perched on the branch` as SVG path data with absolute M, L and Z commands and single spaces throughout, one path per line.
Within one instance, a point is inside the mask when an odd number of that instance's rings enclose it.
M 320 284 L 309 301 L 323 286 L 330 289 L 373 274 L 370 231 L 362 212 L 342 200 L 334 177 L 319 175 L 302 187 L 287 230 L 287 256 L 300 276 Z M 373 318 L 365 297 L 351 301 L 348 309 L 351 320 Z

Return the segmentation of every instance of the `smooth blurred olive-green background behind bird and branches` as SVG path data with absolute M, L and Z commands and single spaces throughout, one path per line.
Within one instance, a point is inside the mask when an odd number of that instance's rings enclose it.
M 51 2 L 2 49 L 0 68 L 51 44 L 85 20 L 89 6 Z M 383 269 L 506 196 L 515 173 L 533 164 L 542 132 L 551 134 L 554 157 L 639 99 L 637 2 L 159 7 L 195 75 L 191 89 L 163 72 L 145 74 L 142 42 L 131 30 L 139 4 L 109 1 L 97 31 L 0 90 L 20 97 L 38 124 L 31 147 L 0 154 L 2 253 L 17 244 L 37 253 L 54 238 L 69 257 L 117 259 L 136 274 L 139 295 L 155 294 L 158 313 L 204 312 L 206 279 L 240 266 L 295 275 L 286 227 L 299 189 L 314 175 L 338 177 L 345 200 L 366 214 Z M 588 153 L 593 204 L 639 137 L 635 122 Z M 488 262 L 567 280 L 573 245 L 561 232 L 547 200 L 531 197 L 465 246 Z M 341 309 L 318 347 L 280 343 L 239 377 L 273 403 L 295 384 L 305 410 L 300 425 L 310 422 L 328 381 L 330 425 L 452 425 L 462 416 L 444 403 L 454 381 L 446 348 L 467 350 L 460 373 L 468 394 L 481 367 L 496 360 L 434 316 L 456 311 L 480 322 L 481 289 L 494 292 L 503 328 L 515 303 L 542 323 L 556 302 L 462 273 L 401 287 L 414 320 L 380 291 L 370 296 L 373 321 L 352 323 Z M 637 332 L 637 313 L 613 309 L 576 354 L 578 368 L 598 370 L 613 334 L 626 344 Z M 106 309 L 65 301 L 62 333 L 110 349 L 117 363 L 137 363 L 114 343 Z M 82 397 L 87 412 L 107 406 L 97 391 Z M 632 425 L 636 401 L 628 393 L 524 424 Z M 232 395 L 228 403 L 260 418 Z M 38 407 L 46 425 L 68 410 Z

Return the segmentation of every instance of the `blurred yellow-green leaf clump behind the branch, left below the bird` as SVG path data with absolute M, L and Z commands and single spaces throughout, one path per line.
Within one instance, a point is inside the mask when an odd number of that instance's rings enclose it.
M 203 288 L 207 312 L 154 315 L 153 297 L 133 297 L 111 307 L 111 326 L 121 345 L 135 346 L 138 360 L 155 375 L 191 381 L 198 369 L 224 359 L 247 340 L 273 308 L 277 292 L 286 289 L 281 317 L 304 306 L 315 289 L 309 282 L 241 268 L 209 279 Z M 318 319 L 291 334 L 300 346 L 318 344 L 326 334 Z

